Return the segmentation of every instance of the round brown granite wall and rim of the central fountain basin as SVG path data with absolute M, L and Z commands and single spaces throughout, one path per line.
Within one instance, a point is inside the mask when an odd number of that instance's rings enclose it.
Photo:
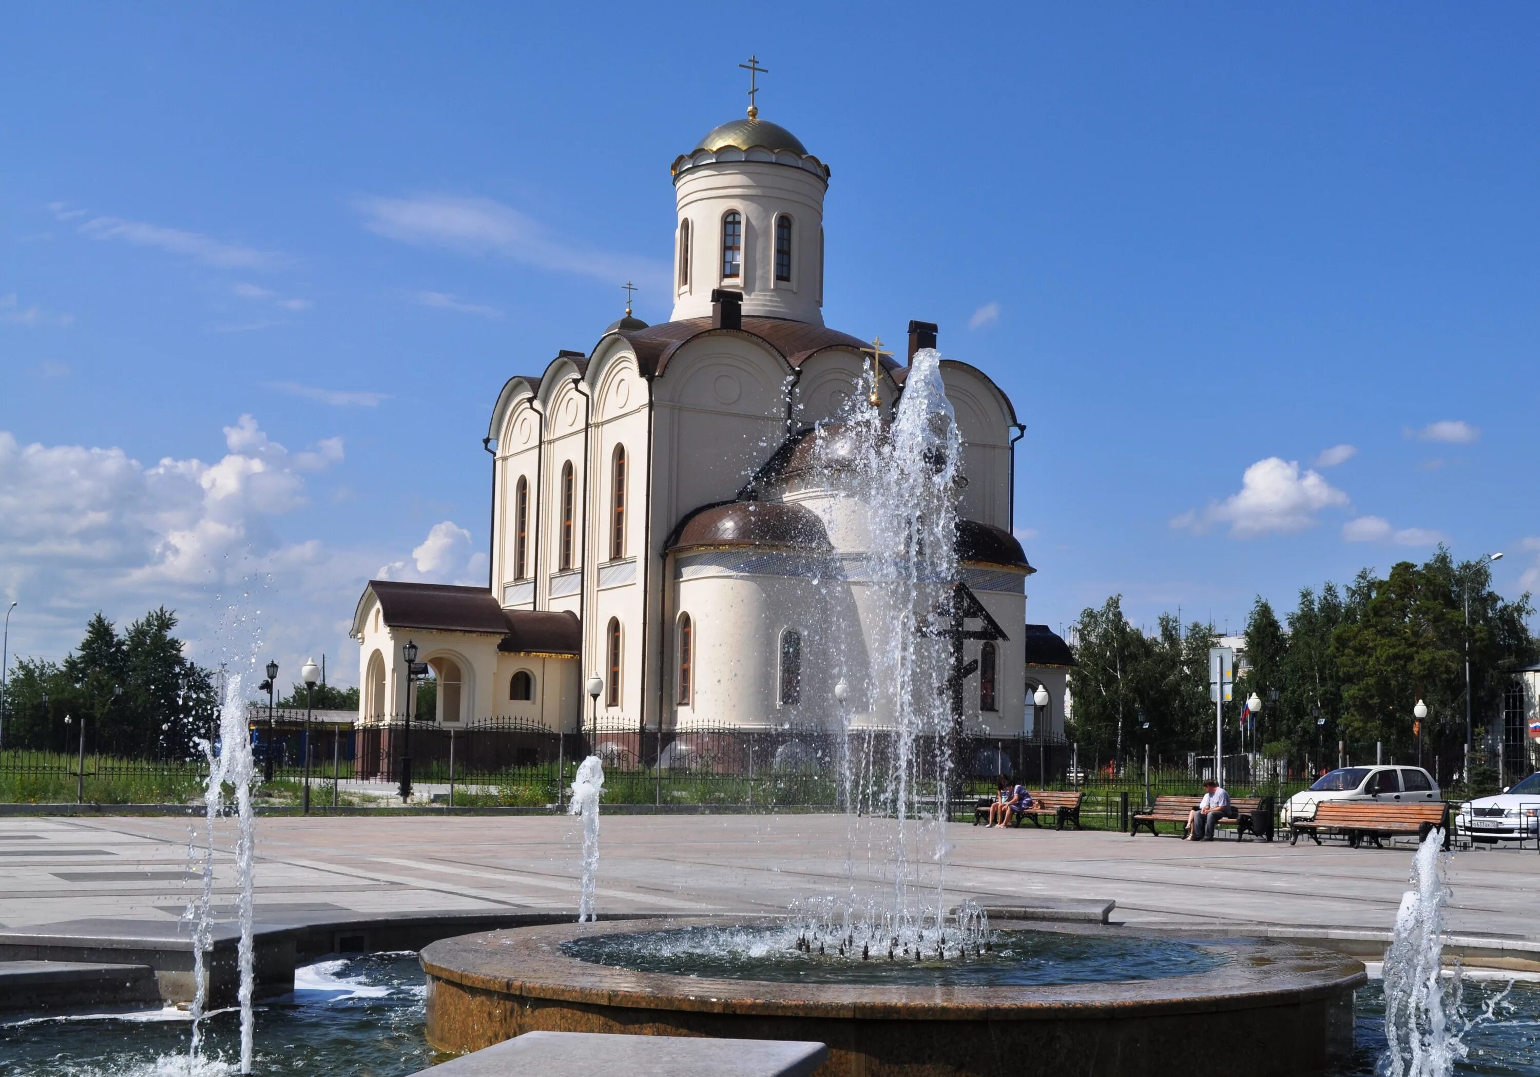
M 447 1052 L 531 1031 L 799 1040 L 829 1046 L 821 1077 L 1301 1077 L 1351 1052 L 1352 995 L 1366 981 L 1363 965 L 1340 954 L 1220 937 L 1201 940 L 1227 958 L 1204 975 L 989 989 L 707 980 L 561 949 L 658 928 L 562 924 L 433 943 L 420 958 L 428 1040 Z

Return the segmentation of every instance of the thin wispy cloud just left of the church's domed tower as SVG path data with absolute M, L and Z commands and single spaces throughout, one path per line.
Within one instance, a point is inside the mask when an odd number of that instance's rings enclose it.
M 365 228 L 403 243 L 442 247 L 462 254 L 502 254 L 542 270 L 667 287 L 668 271 L 662 263 L 591 250 L 491 199 L 453 194 L 365 197 L 354 208 L 363 214 Z

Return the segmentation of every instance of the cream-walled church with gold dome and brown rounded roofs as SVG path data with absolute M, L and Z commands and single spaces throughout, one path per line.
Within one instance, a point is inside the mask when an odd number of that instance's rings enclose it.
M 887 626 L 862 599 L 859 536 L 830 524 L 812 434 L 850 407 L 890 414 L 909 365 L 824 324 L 830 166 L 796 136 L 750 106 L 670 176 L 670 319 L 627 307 L 588 351 L 508 377 L 482 442 L 490 585 L 368 582 L 351 627 L 360 724 L 405 713 L 410 641 L 437 679 L 439 726 L 776 729 L 849 707 L 852 726 L 884 727 L 862 655 L 890 646 Z M 927 347 L 936 327 L 910 322 L 907 356 Z M 1012 535 L 1024 427 L 978 367 L 942 359 L 941 377 L 961 436 L 962 584 L 995 626 L 959 655 L 961 720 L 1032 733 L 1041 683 L 1053 703 L 1040 735 L 1061 738 L 1069 658 L 1024 624 L 1033 569 Z M 813 610 L 830 589 L 856 610 L 841 635 L 859 638 L 825 638 Z

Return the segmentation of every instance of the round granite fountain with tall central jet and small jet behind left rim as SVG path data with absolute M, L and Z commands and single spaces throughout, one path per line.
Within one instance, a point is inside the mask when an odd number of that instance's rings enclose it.
M 827 633 L 832 678 L 867 703 L 858 730 L 839 696 L 847 834 L 853 843 L 864 806 L 859 826 L 886 854 L 884 889 L 862 903 L 852 875 L 847 894 L 808 895 L 781 918 L 593 923 L 602 770 L 590 758 L 573 784 L 579 923 L 428 946 L 430 1043 L 473 1051 L 537 1029 L 796 1038 L 829 1045 L 821 1072 L 915 1075 L 1295 1077 L 1351 1048 L 1352 992 L 1364 983 L 1352 958 L 1255 938 L 992 921 L 949 901 L 962 647 L 979 638 L 966 621 L 981 615 L 955 552 L 961 444 L 939 356 L 915 356 L 890 422 L 858 398 L 808 436 L 802 504 L 822 504 L 827 532 L 859 539 L 862 613 L 890 626 L 865 667 L 839 643 L 853 624 Z M 853 609 L 835 601 L 850 593 L 839 572 L 819 581 L 830 612 Z M 890 752 L 853 736 L 876 727 Z

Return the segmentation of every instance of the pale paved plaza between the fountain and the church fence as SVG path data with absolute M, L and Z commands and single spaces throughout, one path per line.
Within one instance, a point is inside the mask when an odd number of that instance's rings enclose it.
M 186 857 L 194 824 L 202 820 L 0 820 L 0 929 L 174 921 L 197 889 Z M 599 911 L 778 912 L 810 894 L 876 894 L 892 826 L 864 820 L 850 841 L 835 815 L 605 817 Z M 216 904 L 226 915 L 234 840 L 234 821 L 223 821 Z M 1408 844 L 1194 844 L 967 824 L 950 826 L 947 840 L 956 895 L 984 904 L 1110 898 L 1112 920 L 1132 924 L 1388 931 L 1411 867 Z M 266 817 L 257 821 L 259 918 L 574 909 L 581 846 L 567 817 Z M 1449 884 L 1452 931 L 1540 943 L 1534 851 L 1457 852 Z

